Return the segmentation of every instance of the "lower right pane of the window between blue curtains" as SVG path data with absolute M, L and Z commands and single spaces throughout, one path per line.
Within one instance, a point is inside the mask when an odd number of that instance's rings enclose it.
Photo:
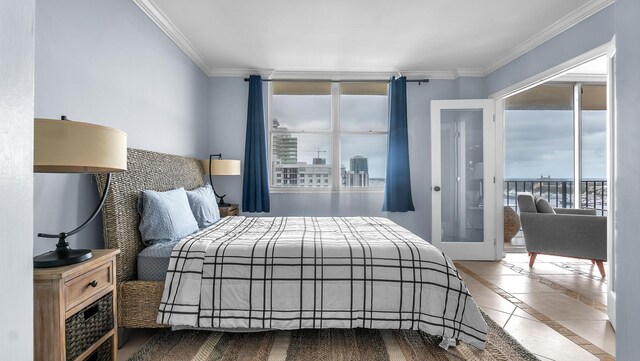
M 384 187 L 387 136 L 343 135 L 340 175 L 343 187 Z

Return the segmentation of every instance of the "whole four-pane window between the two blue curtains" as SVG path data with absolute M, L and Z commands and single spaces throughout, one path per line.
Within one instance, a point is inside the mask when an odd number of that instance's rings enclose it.
M 382 190 L 387 88 L 387 82 L 271 83 L 272 189 L 313 183 L 325 191 Z M 283 175 L 289 182 L 277 182 Z

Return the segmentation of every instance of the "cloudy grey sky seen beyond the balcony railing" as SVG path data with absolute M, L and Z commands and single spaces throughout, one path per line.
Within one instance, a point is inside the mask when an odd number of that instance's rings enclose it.
M 606 178 L 606 112 L 584 111 L 582 177 Z M 505 178 L 573 178 L 573 111 L 507 110 Z

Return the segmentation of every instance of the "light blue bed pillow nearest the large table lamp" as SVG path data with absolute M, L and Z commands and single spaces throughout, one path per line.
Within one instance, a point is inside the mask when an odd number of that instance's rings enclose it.
M 177 241 L 198 231 L 184 188 L 167 192 L 143 191 L 138 199 L 140 235 L 145 246 Z

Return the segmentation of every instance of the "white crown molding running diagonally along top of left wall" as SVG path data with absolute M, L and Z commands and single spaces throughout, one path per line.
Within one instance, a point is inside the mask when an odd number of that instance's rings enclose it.
M 178 27 L 151 0 L 133 0 L 138 7 L 153 20 L 167 36 L 207 75 L 211 69 L 195 46 L 182 34 Z

